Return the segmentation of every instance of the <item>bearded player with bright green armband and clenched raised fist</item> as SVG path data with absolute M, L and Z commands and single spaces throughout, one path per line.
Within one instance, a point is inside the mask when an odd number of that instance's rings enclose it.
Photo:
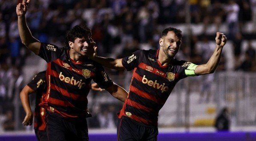
M 158 113 L 175 84 L 187 76 L 213 73 L 220 62 L 226 36 L 217 32 L 216 48 L 207 63 L 196 65 L 176 60 L 182 32 L 173 27 L 162 31 L 158 50 L 138 50 L 128 57 L 99 57 L 97 47 L 89 47 L 90 59 L 111 69 L 133 70 L 128 97 L 118 116 L 118 141 L 157 141 Z

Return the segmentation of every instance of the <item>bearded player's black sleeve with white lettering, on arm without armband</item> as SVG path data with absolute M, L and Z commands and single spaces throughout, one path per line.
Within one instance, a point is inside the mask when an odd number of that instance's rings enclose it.
M 136 68 L 140 62 L 140 58 L 143 55 L 143 50 L 133 52 L 130 56 L 122 58 L 122 64 L 127 71 Z

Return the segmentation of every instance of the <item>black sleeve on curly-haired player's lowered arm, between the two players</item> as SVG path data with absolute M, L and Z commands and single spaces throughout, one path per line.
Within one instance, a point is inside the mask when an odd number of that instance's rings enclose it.
M 97 66 L 95 71 L 95 77 L 93 81 L 99 85 L 100 88 L 105 89 L 113 84 L 113 81 L 108 77 L 102 66 Z

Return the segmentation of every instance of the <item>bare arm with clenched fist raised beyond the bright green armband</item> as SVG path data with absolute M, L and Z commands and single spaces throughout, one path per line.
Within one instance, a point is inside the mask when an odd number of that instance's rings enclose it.
M 217 32 L 216 38 L 216 48 L 214 50 L 214 53 L 211 55 L 211 58 L 208 60 L 206 64 L 198 65 L 195 69 L 196 75 L 205 75 L 209 73 L 214 73 L 215 69 L 217 68 L 221 52 L 223 49 L 223 46 L 227 42 L 227 38 L 223 33 Z

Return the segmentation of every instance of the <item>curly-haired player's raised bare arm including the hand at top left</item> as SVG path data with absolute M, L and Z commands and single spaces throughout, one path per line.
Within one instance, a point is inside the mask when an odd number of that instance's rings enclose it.
M 27 22 L 25 18 L 29 2 L 30 0 L 23 0 L 22 3 L 18 3 L 16 7 L 16 14 L 18 16 L 18 29 L 21 37 L 21 42 L 35 54 L 38 54 L 41 43 L 32 36 L 29 28 L 27 27 Z

